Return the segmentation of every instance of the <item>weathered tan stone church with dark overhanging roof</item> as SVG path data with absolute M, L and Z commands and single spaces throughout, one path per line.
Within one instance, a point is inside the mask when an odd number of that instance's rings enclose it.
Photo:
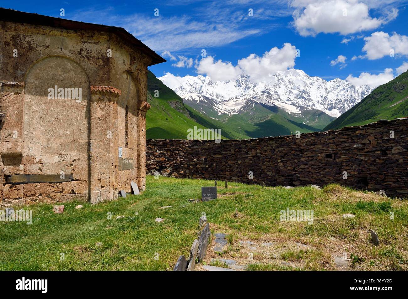
M 147 67 L 123 28 L 0 9 L 0 205 L 145 188 Z

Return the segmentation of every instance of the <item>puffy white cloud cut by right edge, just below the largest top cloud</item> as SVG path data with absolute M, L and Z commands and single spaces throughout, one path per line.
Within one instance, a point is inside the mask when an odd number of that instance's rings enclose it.
M 363 51 L 370 60 L 379 59 L 386 55 L 408 55 L 408 36 L 393 33 L 389 35 L 383 31 L 377 31 L 371 36 L 364 37 L 366 42 Z

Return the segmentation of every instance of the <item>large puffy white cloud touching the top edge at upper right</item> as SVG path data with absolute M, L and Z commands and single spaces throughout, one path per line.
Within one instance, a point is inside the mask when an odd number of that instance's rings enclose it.
M 348 35 L 373 30 L 398 15 L 397 9 L 384 11 L 382 17 L 371 17 L 369 7 L 358 0 L 293 1 L 294 26 L 302 36 L 318 33 Z

